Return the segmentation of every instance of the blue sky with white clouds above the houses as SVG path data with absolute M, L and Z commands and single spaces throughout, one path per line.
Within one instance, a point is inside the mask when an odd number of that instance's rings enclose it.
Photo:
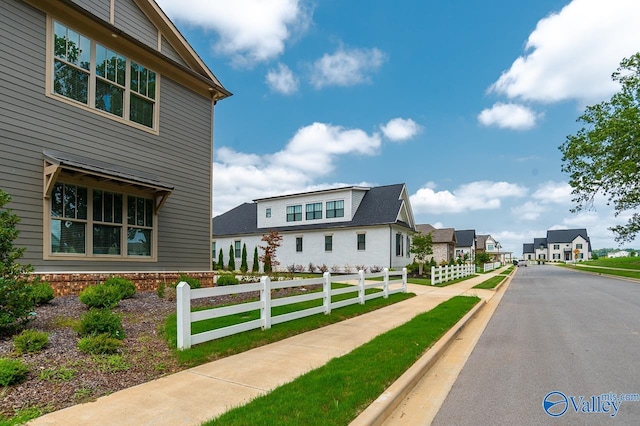
M 640 50 L 637 0 L 157 0 L 222 84 L 214 215 L 256 198 L 405 183 L 417 223 L 520 255 L 570 213 L 558 150 Z

